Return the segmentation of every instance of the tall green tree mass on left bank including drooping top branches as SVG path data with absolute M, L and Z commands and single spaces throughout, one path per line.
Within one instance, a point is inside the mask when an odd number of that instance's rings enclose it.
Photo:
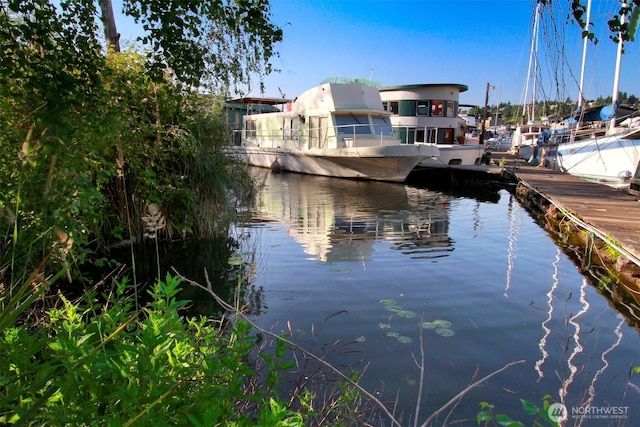
M 218 98 L 196 86 L 271 71 L 268 2 L 127 1 L 143 54 L 105 51 L 105 1 L 56 3 L 0 0 L 0 274 L 51 253 L 77 271 L 88 248 L 148 231 L 145 216 L 167 236 L 205 232 L 204 199 L 218 213 L 205 228 L 224 226 L 245 181 L 219 150 Z

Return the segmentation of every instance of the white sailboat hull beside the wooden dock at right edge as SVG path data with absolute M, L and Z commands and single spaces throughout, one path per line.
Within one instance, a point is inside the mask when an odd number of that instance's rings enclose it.
M 558 145 L 562 172 L 598 181 L 628 180 L 640 160 L 640 138 L 620 135 L 565 142 Z

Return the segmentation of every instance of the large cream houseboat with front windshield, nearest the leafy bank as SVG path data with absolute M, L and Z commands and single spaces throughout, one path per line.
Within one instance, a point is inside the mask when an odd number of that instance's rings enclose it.
M 369 80 L 329 79 L 280 103 L 278 112 L 244 116 L 241 143 L 231 149 L 248 164 L 402 182 L 420 161 L 438 156 L 435 146 L 401 144 Z

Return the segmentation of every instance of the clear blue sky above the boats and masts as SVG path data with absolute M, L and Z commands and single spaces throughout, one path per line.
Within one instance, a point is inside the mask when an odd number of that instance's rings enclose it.
M 584 0 L 586 2 L 586 0 Z M 564 11 L 545 11 L 539 52 L 538 100 L 577 98 L 582 57 L 580 29 L 567 22 L 567 0 L 554 0 Z M 114 9 L 119 11 L 119 1 Z M 616 0 L 593 0 L 592 20 L 600 39 L 589 50 L 585 92 L 588 98 L 610 96 L 615 44 L 606 20 Z M 489 104 L 522 103 L 531 48 L 533 0 L 271 0 L 272 21 L 284 40 L 274 65 L 281 72 L 265 79 L 265 96 L 294 98 L 327 77 L 372 77 L 383 86 L 416 83 L 459 83 L 469 87 L 464 104 L 483 105 L 487 83 Z M 549 47 L 551 17 L 564 32 L 563 43 Z M 116 18 L 118 19 L 118 18 Z M 118 19 L 126 40 L 136 30 Z M 547 35 L 543 33 L 547 33 Z M 638 43 L 626 46 L 620 90 L 640 96 Z M 559 65 L 559 51 L 571 63 L 573 77 Z M 551 53 L 548 53 L 551 52 Z M 544 59 L 546 58 L 546 59 Z M 545 63 L 546 62 L 546 63 Z M 558 69 L 560 91 L 549 70 Z M 257 85 L 256 85 L 257 87 Z M 532 89 L 530 86 L 529 93 Z M 260 95 L 257 88 L 251 95 Z M 530 95 L 529 95 L 530 96 Z

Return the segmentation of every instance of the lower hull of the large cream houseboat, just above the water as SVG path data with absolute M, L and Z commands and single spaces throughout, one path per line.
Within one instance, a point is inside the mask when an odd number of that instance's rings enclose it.
M 408 144 L 326 150 L 286 150 L 244 145 L 232 147 L 232 150 L 252 166 L 390 182 L 404 182 L 420 161 L 438 155 L 435 147 Z

